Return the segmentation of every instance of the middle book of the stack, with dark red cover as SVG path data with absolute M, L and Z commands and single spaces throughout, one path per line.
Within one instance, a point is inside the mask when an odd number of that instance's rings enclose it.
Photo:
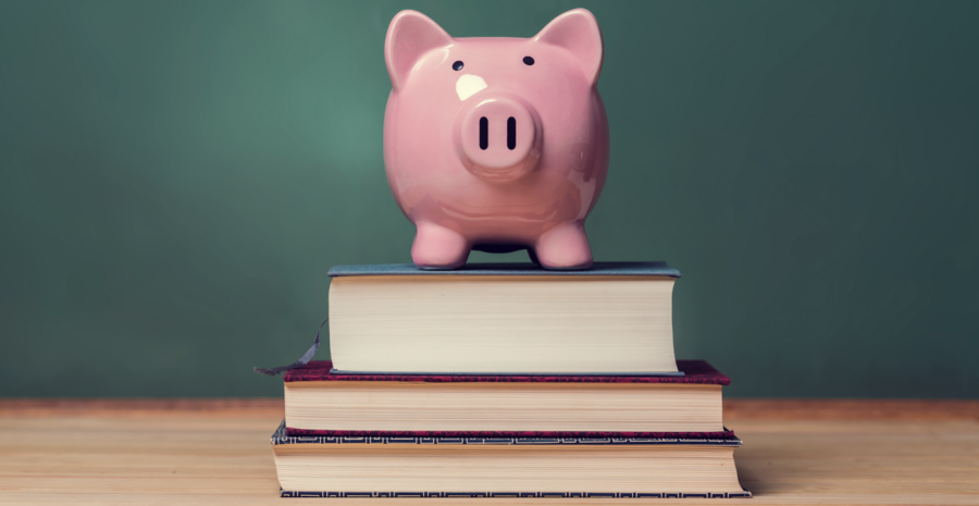
M 312 361 L 283 374 L 289 435 L 733 437 L 728 377 L 343 374 Z

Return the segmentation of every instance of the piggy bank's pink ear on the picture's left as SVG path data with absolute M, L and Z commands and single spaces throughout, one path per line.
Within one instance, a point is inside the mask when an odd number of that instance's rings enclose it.
M 384 41 L 391 86 L 397 91 L 408 81 L 408 74 L 422 54 L 450 44 L 453 37 L 429 16 L 416 11 L 399 12 L 391 20 Z

